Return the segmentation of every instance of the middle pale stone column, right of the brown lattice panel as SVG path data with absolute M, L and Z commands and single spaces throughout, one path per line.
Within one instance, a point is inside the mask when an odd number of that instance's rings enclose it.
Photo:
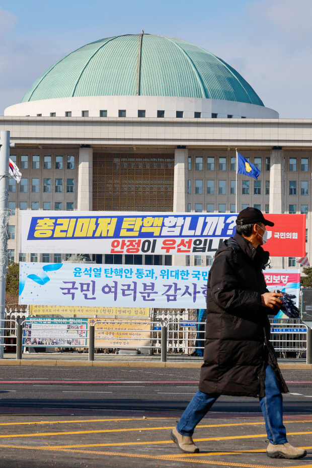
M 175 174 L 174 174 L 174 194 L 173 194 L 173 211 L 185 212 L 186 207 L 186 193 L 187 193 L 187 164 L 188 164 L 189 151 L 186 148 L 175 149 Z M 184 255 L 173 255 L 172 264 L 174 266 L 185 266 L 186 257 Z

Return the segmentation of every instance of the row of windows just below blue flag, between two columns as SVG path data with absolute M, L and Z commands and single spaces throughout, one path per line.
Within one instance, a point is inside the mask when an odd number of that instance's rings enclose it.
M 230 182 L 230 195 L 236 194 L 236 181 L 231 180 Z M 214 180 L 207 180 L 207 195 L 214 195 L 215 188 L 214 188 Z M 254 195 L 261 195 L 261 180 L 254 181 Z M 192 181 L 188 180 L 188 188 L 187 193 L 192 193 Z M 203 181 L 202 180 L 195 180 L 195 194 L 202 195 L 203 193 Z M 226 195 L 226 180 L 219 180 L 218 181 L 218 194 L 219 195 Z M 250 181 L 243 180 L 242 181 L 242 194 L 243 195 L 250 195 Z M 270 181 L 265 181 L 265 194 L 270 195 Z

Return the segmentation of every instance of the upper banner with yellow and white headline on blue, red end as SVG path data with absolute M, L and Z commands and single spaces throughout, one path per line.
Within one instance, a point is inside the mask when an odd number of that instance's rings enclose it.
M 21 252 L 205 255 L 235 234 L 236 214 L 21 210 Z M 305 255 L 305 215 L 266 215 L 273 257 Z

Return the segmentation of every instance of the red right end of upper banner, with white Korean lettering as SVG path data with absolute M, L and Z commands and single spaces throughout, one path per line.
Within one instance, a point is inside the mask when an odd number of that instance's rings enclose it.
M 268 242 L 263 246 L 271 257 L 305 256 L 305 214 L 264 214 L 274 226 L 267 226 Z

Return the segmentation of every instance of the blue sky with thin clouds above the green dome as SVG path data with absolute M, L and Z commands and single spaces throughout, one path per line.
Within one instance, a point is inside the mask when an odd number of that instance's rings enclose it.
M 311 17 L 311 0 L 0 0 L 0 114 L 65 54 L 144 28 L 220 56 L 280 117 L 311 118 Z

